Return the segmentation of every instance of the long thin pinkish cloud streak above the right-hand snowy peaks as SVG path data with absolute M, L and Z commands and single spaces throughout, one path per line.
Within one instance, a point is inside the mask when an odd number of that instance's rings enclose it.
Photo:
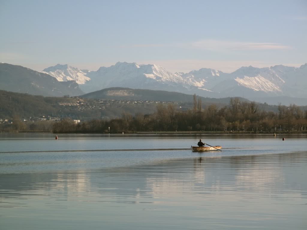
M 210 51 L 231 51 L 231 50 L 284 50 L 290 46 L 279 43 L 252 43 L 221 40 L 201 40 L 191 43 L 193 47 Z

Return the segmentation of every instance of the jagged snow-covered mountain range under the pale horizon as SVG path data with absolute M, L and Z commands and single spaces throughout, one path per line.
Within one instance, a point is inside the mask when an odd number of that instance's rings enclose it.
M 64 70 L 63 70 L 64 69 Z M 72 74 L 74 70 L 75 74 Z M 301 67 L 241 67 L 232 73 L 202 68 L 189 73 L 171 73 L 158 65 L 116 63 L 98 71 L 56 65 L 44 70 L 57 79 L 74 79 L 84 92 L 108 87 L 166 90 L 204 97 L 270 98 L 278 96 L 307 98 L 307 64 Z M 90 80 L 88 80 L 90 79 Z M 82 82 L 82 83 L 81 83 Z

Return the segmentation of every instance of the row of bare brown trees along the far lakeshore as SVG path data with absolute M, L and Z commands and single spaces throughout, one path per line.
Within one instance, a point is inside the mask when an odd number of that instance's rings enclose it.
M 256 102 L 231 98 L 229 105 L 202 108 L 201 98 L 193 97 L 193 107 L 180 111 L 178 104 L 158 104 L 152 114 L 123 112 L 114 119 L 92 119 L 80 123 L 70 118 L 60 121 L 0 124 L 1 132 L 54 133 L 133 133 L 133 132 L 307 132 L 307 110 L 299 106 L 278 104 L 278 112 L 260 109 Z

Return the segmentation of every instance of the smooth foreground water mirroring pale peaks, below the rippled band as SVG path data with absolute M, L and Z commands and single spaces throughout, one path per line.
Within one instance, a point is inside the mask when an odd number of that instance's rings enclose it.
M 307 152 L 297 152 L 197 155 L 133 167 L 2 174 L 0 221 L 2 229 L 19 228 L 22 221 L 23 229 L 33 229 L 34 222 L 46 229 L 82 229 L 85 224 L 109 229 L 305 229 L 306 169 Z

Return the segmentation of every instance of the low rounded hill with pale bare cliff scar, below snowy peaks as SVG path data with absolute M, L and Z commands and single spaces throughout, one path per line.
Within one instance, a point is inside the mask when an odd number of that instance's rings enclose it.
M 95 99 L 117 99 L 117 100 L 143 100 L 143 101 L 174 101 L 174 102 L 192 102 L 193 95 L 169 92 L 163 90 L 142 90 L 122 87 L 112 87 L 98 90 L 80 96 L 81 98 Z M 203 103 L 229 104 L 228 98 L 201 98 Z M 240 101 L 248 101 L 245 98 L 239 98 Z

